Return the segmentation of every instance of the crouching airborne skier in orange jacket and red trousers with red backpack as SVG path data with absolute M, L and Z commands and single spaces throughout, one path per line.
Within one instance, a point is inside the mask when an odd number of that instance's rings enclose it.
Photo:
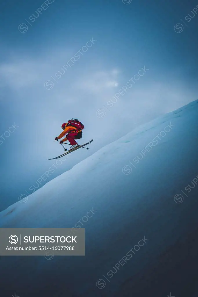
M 75 141 L 75 139 L 82 138 L 83 136 L 82 130 L 84 129 L 84 125 L 77 119 L 75 120 L 71 119 L 67 123 L 63 123 L 61 128 L 64 131 L 58 137 L 56 137 L 55 140 L 59 140 L 63 138 L 63 136 L 65 136 L 68 133 L 63 140 L 60 140 L 59 143 L 63 143 L 64 141 L 69 140 L 69 143 L 71 144 L 70 150 L 79 146 Z

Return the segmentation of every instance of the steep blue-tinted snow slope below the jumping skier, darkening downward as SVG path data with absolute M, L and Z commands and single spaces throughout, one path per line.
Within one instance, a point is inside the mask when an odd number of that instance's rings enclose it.
M 26 203 L 2 211 L 1 228 L 80 225 L 86 242 L 84 257 L 2 257 L 4 286 L 27 296 L 35 288 L 56 297 L 117 296 L 121 291 L 118 296 L 132 296 L 132 279 L 198 225 L 197 115 L 198 100 L 142 125 L 48 182 Z M 189 193 L 188 184 L 194 185 Z M 183 195 L 182 203 L 175 203 L 177 194 Z M 90 210 L 93 216 L 83 222 Z M 115 264 L 144 236 L 146 244 L 117 270 Z M 117 271 L 111 278 L 110 270 Z M 98 279 L 105 280 L 103 289 L 96 287 Z M 139 296 L 145 296 L 143 288 Z

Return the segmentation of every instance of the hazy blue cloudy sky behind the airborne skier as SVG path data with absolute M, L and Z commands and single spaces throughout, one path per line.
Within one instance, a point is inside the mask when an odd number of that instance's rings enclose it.
M 1 135 L 19 126 L 0 142 L 0 210 L 31 194 L 51 166 L 39 187 L 138 125 L 197 99 L 197 2 L 128 2 L 0 4 Z M 45 88 L 48 80 L 52 89 Z M 53 165 L 48 159 L 62 153 L 54 138 L 70 118 L 85 125 L 79 143 L 94 142 Z

